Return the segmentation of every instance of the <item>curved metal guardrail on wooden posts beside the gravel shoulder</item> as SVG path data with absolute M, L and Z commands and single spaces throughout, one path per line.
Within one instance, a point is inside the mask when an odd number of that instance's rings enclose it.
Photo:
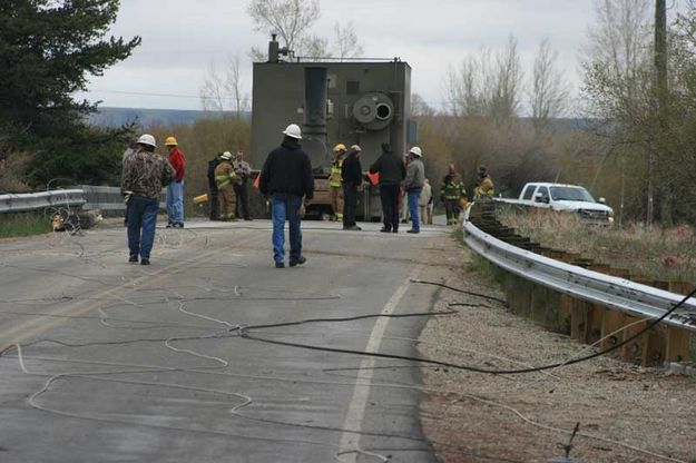
M 467 245 L 497 266 L 539 285 L 631 315 L 657 318 L 684 296 L 588 270 L 509 245 L 464 221 Z M 664 323 L 696 332 L 696 298 L 687 299 Z

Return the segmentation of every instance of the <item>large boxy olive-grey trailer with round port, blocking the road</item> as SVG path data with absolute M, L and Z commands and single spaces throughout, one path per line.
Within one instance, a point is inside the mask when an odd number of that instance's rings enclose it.
M 332 60 L 293 57 L 268 43 L 268 60 L 253 67 L 251 158 L 261 167 L 290 124 L 302 127 L 302 148 L 312 160 L 315 195 L 306 214 L 330 217 L 332 147 L 360 145 L 363 170 L 376 160 L 382 142 L 396 154 L 416 141 L 410 121 L 411 67 L 399 58 Z M 379 189 L 366 183 L 357 215 L 379 219 Z

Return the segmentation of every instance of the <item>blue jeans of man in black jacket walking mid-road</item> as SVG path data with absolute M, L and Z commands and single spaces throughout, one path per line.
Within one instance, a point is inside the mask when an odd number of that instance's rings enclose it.
M 285 260 L 285 219 L 290 223 L 290 260 L 302 256 L 302 230 L 300 229 L 300 206 L 302 197 L 276 194 L 271 198 L 273 218 L 273 260 Z

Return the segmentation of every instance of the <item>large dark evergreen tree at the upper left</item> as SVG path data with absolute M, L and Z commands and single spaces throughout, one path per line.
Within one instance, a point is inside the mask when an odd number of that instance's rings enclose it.
M 84 117 L 96 106 L 71 95 L 140 43 L 139 37 L 105 38 L 118 7 L 118 0 L 0 1 L 0 137 L 8 151 L 33 155 L 35 183 L 53 177 L 104 181 L 102 167 L 117 165 L 102 166 L 98 159 L 124 130 L 86 127 Z

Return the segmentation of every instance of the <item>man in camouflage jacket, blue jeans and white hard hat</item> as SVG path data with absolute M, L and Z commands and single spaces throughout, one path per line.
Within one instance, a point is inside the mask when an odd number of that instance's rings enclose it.
M 155 243 L 155 227 L 159 211 L 163 186 L 175 177 L 174 168 L 155 154 L 155 137 L 144 134 L 138 138 L 135 151 L 124 160 L 121 194 L 128 210 L 128 262 L 150 264 Z

